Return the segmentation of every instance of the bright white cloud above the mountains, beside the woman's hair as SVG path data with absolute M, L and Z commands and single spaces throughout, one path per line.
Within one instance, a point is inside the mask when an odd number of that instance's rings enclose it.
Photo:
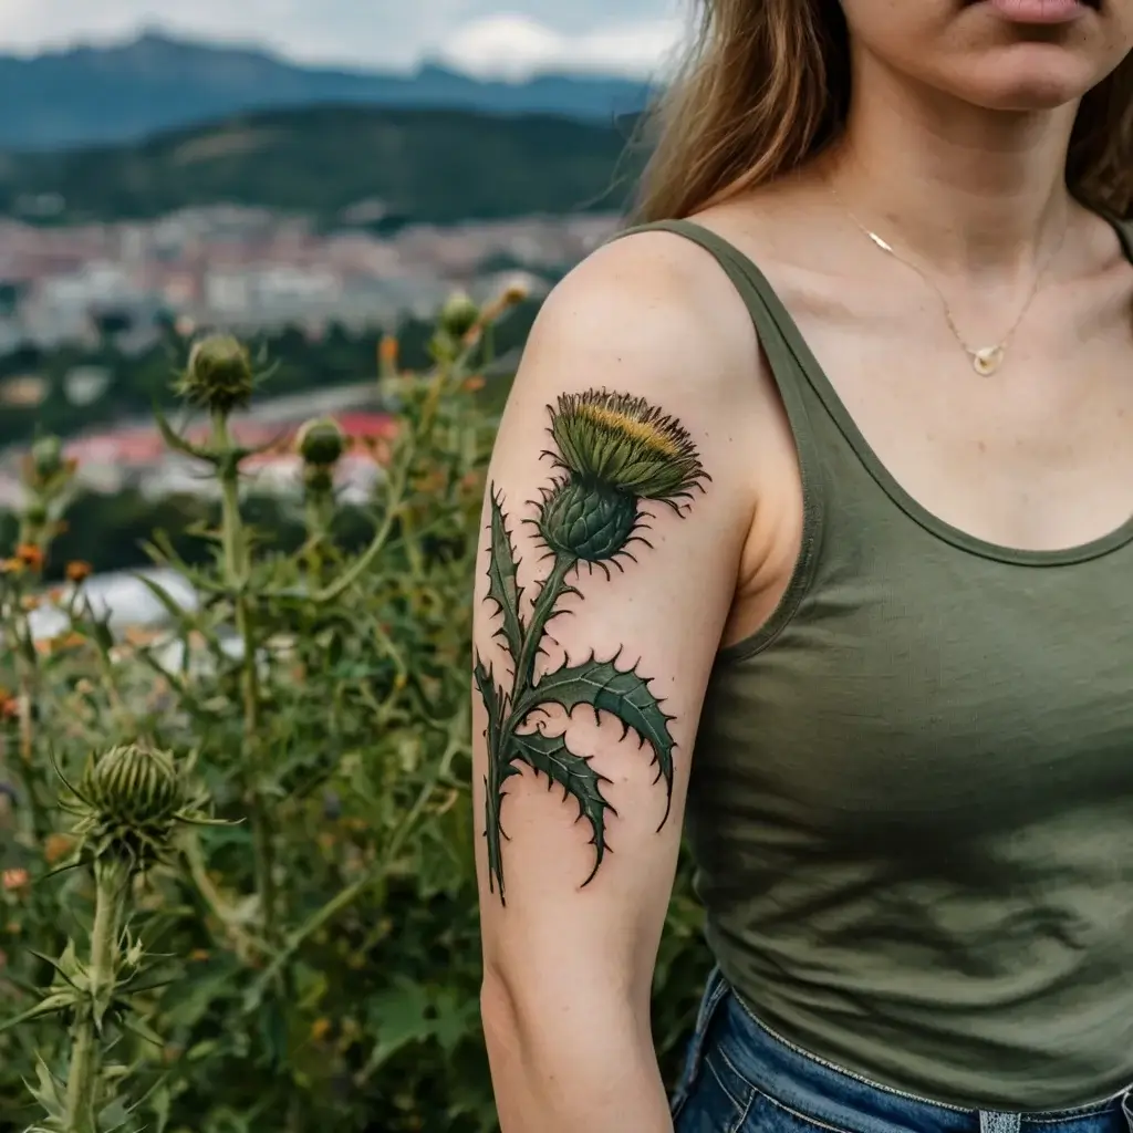
M 461 27 L 441 58 L 472 75 L 526 78 L 536 71 L 599 71 L 650 77 L 682 39 L 675 19 L 644 20 L 569 34 L 518 14 L 487 16 Z

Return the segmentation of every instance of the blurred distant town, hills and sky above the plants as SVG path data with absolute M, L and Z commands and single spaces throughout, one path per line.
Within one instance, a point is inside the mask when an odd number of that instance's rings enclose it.
M 628 199 L 668 7 L 6 0 L 0 508 L 37 428 L 102 495 L 191 491 L 144 419 L 203 327 L 276 361 L 257 431 L 373 410 L 377 337 L 419 361 L 455 287 L 528 290 L 505 366 Z M 99 508 L 99 538 L 69 552 L 131 565 Z

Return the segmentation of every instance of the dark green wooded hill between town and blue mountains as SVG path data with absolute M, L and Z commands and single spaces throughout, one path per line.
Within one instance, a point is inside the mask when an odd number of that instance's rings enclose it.
M 631 123 L 458 110 L 315 107 L 140 143 L 0 155 L 0 212 L 53 222 L 262 205 L 323 222 L 452 222 L 621 207 Z M 364 206 L 364 207 L 363 207 Z

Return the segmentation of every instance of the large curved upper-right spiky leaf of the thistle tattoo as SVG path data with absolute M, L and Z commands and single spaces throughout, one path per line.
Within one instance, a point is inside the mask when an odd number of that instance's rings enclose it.
M 614 658 L 616 661 L 616 658 Z M 591 657 L 581 665 L 564 665 L 547 673 L 516 705 L 519 718 L 546 704 L 561 705 L 568 713 L 579 705 L 594 709 L 596 719 L 606 712 L 622 725 L 622 736 L 636 732 L 641 743 L 653 748 L 657 764 L 657 778 L 664 778 L 666 791 L 664 826 L 668 819 L 673 796 L 673 748 L 675 742 L 668 731 L 674 717 L 661 708 L 661 701 L 649 691 L 649 682 L 636 668 L 617 668 L 613 661 Z

